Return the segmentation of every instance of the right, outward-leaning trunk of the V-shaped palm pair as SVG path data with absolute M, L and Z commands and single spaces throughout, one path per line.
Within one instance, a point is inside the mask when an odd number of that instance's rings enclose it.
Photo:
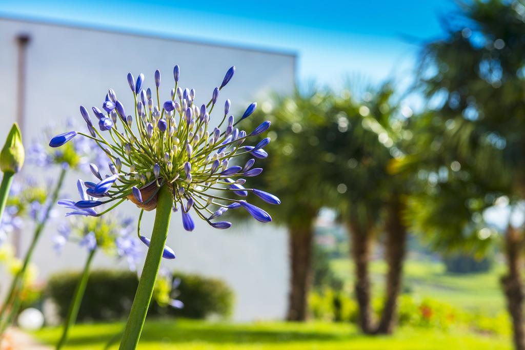
M 397 297 L 401 290 L 403 261 L 406 252 L 406 226 L 402 221 L 403 205 L 399 198 L 390 203 L 385 223 L 386 233 L 386 295 L 381 320 L 376 333 L 391 334 L 395 326 Z

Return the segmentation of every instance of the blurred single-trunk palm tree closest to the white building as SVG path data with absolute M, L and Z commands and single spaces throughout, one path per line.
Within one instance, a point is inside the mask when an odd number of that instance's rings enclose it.
M 260 161 L 265 172 L 251 178 L 250 185 L 265 188 L 281 199 L 279 207 L 268 210 L 273 209 L 274 222 L 289 232 L 290 321 L 304 321 L 308 315 L 314 221 L 329 199 L 320 186 L 325 160 L 318 129 L 326 123 L 331 100 L 330 94 L 319 89 L 296 90 L 288 97 L 276 95 L 250 116 L 252 126 L 264 120 L 272 122 L 268 133 L 272 142 L 265 147 L 271 156 Z

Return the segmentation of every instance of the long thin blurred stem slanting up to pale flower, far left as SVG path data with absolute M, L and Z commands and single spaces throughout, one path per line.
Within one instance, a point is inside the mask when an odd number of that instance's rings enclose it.
M 44 218 L 38 223 L 38 225 L 35 228 L 35 231 L 33 233 L 33 240 L 31 241 L 29 249 L 27 250 L 26 256 L 24 258 L 24 263 L 22 264 L 22 268 L 20 268 L 20 270 L 16 273 L 15 278 L 13 279 L 13 282 L 11 282 L 11 285 L 9 287 L 9 292 L 6 295 L 5 301 L 2 304 L 2 309 L 0 310 L 0 334 L 2 334 L 5 331 L 5 328 L 7 328 L 7 326 L 9 325 L 10 320 L 12 320 L 14 318 L 13 316 L 18 312 L 18 307 L 16 307 L 16 305 L 19 305 L 19 303 L 15 303 L 15 299 L 19 294 L 19 290 L 22 288 L 25 273 L 27 267 L 29 266 L 29 262 L 31 261 L 31 257 L 33 256 L 33 251 L 35 250 L 38 239 L 40 238 L 40 235 L 44 230 L 44 227 L 46 226 L 46 222 L 49 219 L 51 209 L 57 202 L 58 193 L 60 192 L 60 188 L 62 188 L 62 184 L 64 183 L 64 177 L 66 176 L 66 172 L 67 171 L 65 168 L 63 168 L 60 172 L 57 185 L 55 187 L 55 190 L 53 191 L 53 194 L 51 195 L 51 201 L 46 209 Z M 0 189 L 3 188 L 3 186 L 4 180 L 2 180 L 2 187 L 0 187 Z M 13 307 L 11 307 L 11 309 L 9 310 L 10 315 L 6 317 L 5 313 L 10 306 Z

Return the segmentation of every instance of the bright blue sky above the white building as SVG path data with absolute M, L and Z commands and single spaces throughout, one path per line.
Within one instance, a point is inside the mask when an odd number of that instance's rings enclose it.
M 439 37 L 448 0 L 2 0 L 0 15 L 296 52 L 298 78 L 410 79 L 419 40 Z

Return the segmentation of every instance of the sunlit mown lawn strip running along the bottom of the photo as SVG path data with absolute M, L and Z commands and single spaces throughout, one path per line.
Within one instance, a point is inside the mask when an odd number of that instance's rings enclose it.
M 122 330 L 123 323 L 84 324 L 71 331 L 64 350 L 102 349 Z M 59 328 L 45 328 L 34 335 L 54 344 Z M 117 349 L 113 346 L 111 349 Z M 510 339 L 467 333 L 461 330 L 436 332 L 425 328 L 402 328 L 393 336 L 366 337 L 354 326 L 331 323 L 264 322 L 214 323 L 193 320 L 149 320 L 139 349 L 158 350 L 430 350 L 510 349 Z

